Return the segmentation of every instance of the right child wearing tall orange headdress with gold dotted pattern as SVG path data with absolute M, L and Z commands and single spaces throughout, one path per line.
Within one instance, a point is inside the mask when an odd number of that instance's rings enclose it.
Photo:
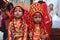
M 43 23 L 43 9 L 39 3 L 34 3 L 30 6 L 30 30 L 29 40 L 47 40 L 48 32 Z

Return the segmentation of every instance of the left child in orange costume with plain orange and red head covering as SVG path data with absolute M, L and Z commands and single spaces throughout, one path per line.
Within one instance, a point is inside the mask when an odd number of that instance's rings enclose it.
M 11 13 L 8 27 L 8 40 L 27 40 L 28 25 L 26 23 L 27 10 L 22 5 L 16 6 Z

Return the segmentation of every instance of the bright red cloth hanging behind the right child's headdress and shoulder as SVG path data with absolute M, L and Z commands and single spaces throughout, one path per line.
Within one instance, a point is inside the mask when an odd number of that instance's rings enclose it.
M 46 25 L 46 28 L 47 28 L 49 34 L 50 34 L 51 28 L 52 28 L 52 18 L 49 15 L 49 12 L 48 12 L 49 10 L 48 10 L 47 4 L 46 3 L 42 3 L 41 7 L 44 10 L 44 23 Z M 46 24 L 47 21 L 49 21 L 49 22 Z

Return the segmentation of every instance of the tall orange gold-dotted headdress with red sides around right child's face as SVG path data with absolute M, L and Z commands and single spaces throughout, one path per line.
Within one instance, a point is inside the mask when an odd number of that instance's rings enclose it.
M 44 24 L 43 24 L 43 14 L 44 14 L 44 11 L 43 9 L 40 7 L 41 5 L 39 3 L 33 3 L 31 6 L 30 6 L 30 29 L 34 26 L 34 22 L 33 22 L 33 15 L 36 13 L 36 12 L 39 12 L 41 15 L 42 15 L 42 22 L 40 24 L 40 28 L 44 27 Z

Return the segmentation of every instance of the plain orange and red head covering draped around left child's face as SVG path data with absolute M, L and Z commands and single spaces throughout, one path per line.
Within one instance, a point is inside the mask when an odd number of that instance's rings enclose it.
M 27 15 L 28 15 L 29 12 L 28 12 L 28 9 L 26 8 L 26 6 L 24 6 L 24 5 L 22 5 L 22 4 L 19 4 L 19 5 L 17 5 L 17 6 L 19 6 L 21 9 L 24 10 L 23 19 L 27 20 L 26 18 L 27 18 Z M 14 18 L 14 9 L 15 9 L 17 6 L 15 6 L 15 7 L 13 8 L 13 10 L 10 11 L 10 20 L 12 20 L 12 19 Z

